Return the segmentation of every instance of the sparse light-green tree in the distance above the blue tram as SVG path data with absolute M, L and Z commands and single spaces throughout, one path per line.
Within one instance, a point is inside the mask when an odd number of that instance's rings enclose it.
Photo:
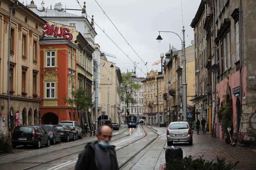
M 123 82 L 121 84 L 121 101 L 124 101 L 127 108 L 127 116 L 129 113 L 129 103 L 131 106 L 137 104 L 137 99 L 134 98 L 134 92 L 138 92 L 141 85 L 132 81 L 131 73 L 122 73 Z

